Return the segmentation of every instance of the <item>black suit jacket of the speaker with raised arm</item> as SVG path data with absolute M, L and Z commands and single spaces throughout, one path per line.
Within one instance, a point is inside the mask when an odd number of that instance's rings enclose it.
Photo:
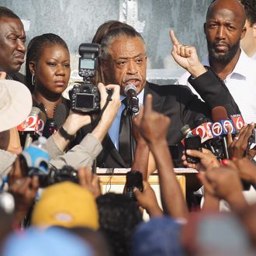
M 211 109 L 215 106 L 229 106 L 228 114 L 240 113 L 237 104 L 230 95 L 226 85 L 209 70 L 198 78 L 189 79 L 205 102 L 202 102 L 191 90 L 184 85 L 154 85 L 147 82 L 144 98 L 147 94 L 153 95 L 153 109 L 171 118 L 168 130 L 168 144 L 178 144 L 179 155 L 182 155 L 182 133 L 180 129 L 185 124 L 195 128 L 195 122 L 202 117 L 210 119 Z M 85 126 L 81 131 L 81 137 L 90 132 Z M 81 138 L 80 138 L 81 140 Z M 112 144 L 109 135 L 102 142 L 103 150 L 97 158 L 97 166 L 100 168 L 127 168 L 118 150 Z

